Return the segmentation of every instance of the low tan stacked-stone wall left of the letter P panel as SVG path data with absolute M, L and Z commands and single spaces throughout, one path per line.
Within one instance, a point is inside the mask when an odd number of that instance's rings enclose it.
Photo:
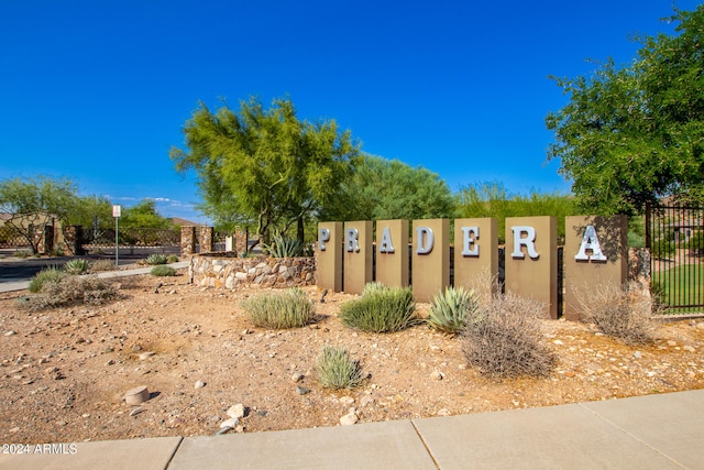
M 314 258 L 218 258 L 194 256 L 188 270 L 190 283 L 202 287 L 240 288 L 295 287 L 316 284 Z

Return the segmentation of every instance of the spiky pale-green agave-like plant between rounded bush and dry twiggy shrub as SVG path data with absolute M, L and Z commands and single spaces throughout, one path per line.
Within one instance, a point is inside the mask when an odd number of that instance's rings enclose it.
M 473 289 L 450 286 L 432 297 L 426 321 L 442 332 L 457 334 L 476 316 L 479 308 Z

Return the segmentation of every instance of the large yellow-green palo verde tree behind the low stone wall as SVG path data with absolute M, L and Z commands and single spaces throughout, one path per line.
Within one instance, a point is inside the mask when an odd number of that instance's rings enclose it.
M 251 98 L 239 112 L 201 103 L 183 131 L 188 150 L 173 147 L 170 157 L 197 173 L 200 209 L 218 225 L 254 221 L 264 243 L 294 225 L 302 242 L 305 221 L 332 200 L 359 154 L 350 131 L 300 121 L 290 99 L 264 109 Z

